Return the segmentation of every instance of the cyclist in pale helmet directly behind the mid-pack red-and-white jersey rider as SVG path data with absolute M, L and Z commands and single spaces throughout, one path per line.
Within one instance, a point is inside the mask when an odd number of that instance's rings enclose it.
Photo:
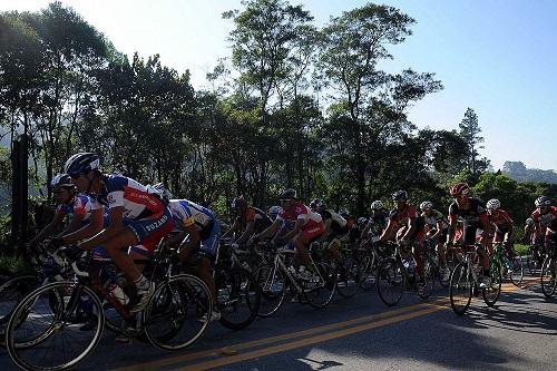
M 346 219 L 328 209 L 323 199 L 320 198 L 313 199 L 310 203 L 310 208 L 314 213 L 319 213 L 325 223 L 325 232 L 317 241 L 323 243 L 323 248 L 329 250 L 339 267 L 344 270 L 340 248 L 349 240 L 350 230 Z

